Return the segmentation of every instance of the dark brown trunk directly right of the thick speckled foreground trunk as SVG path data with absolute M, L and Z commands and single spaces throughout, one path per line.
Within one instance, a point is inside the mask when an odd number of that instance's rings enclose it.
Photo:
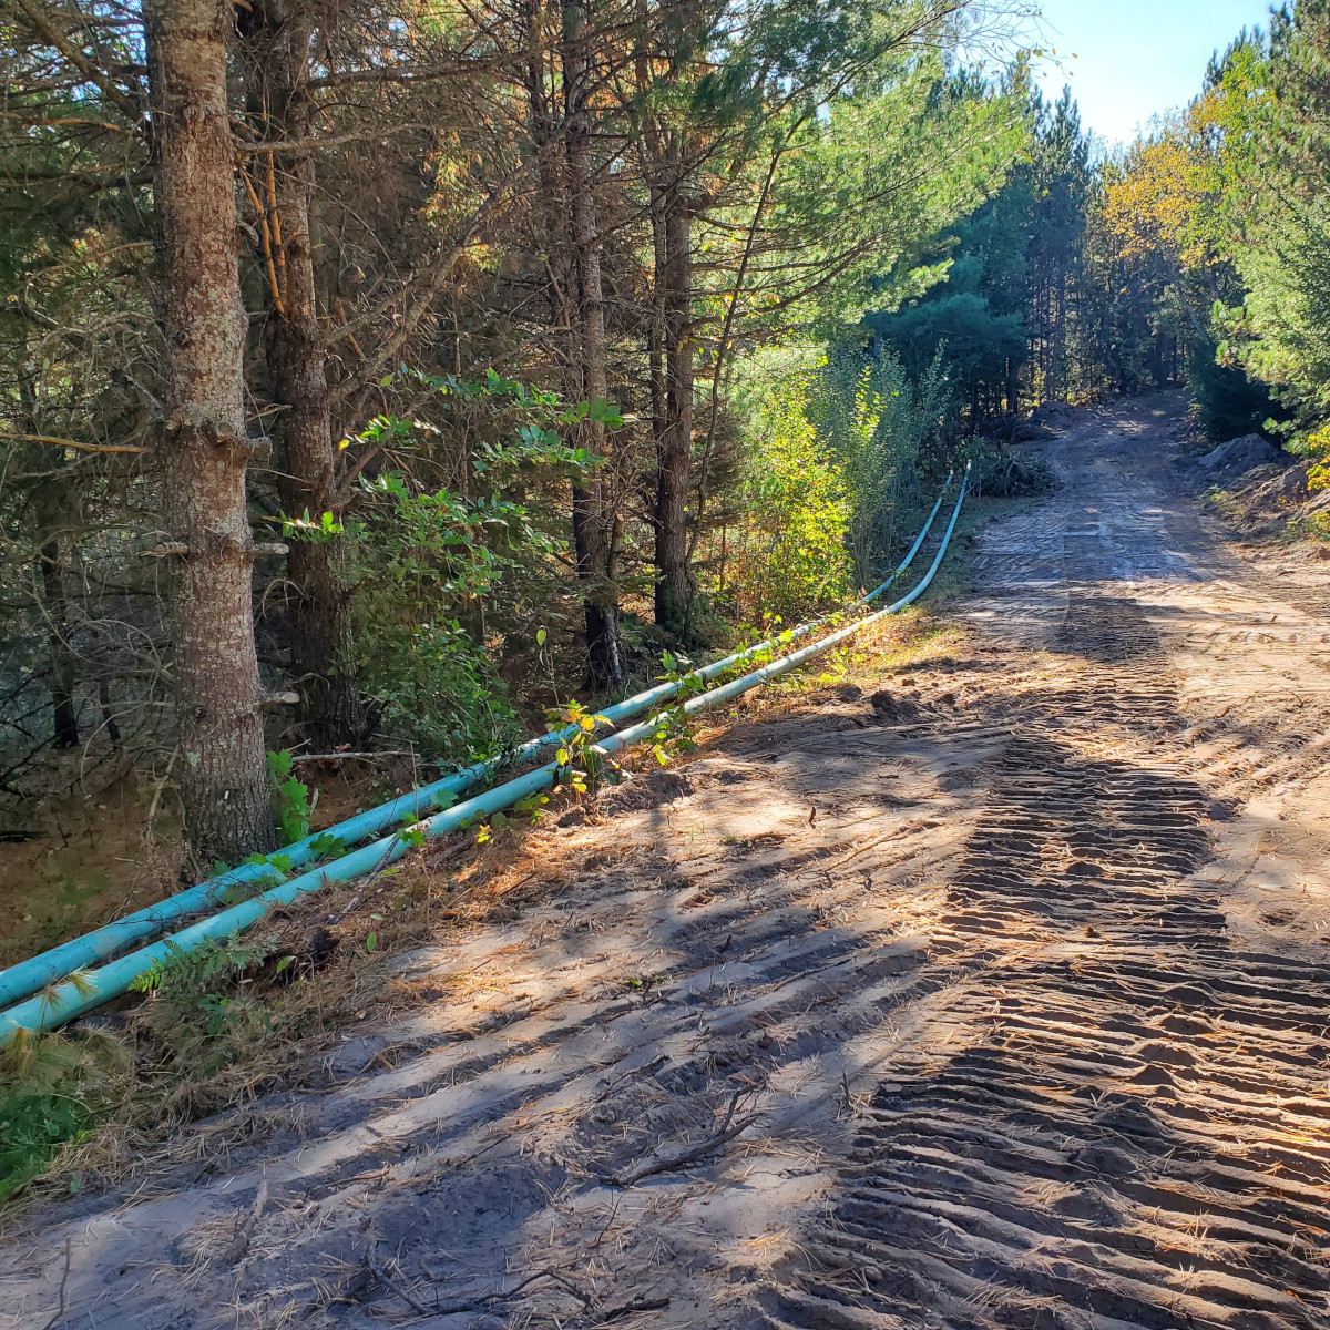
M 266 108 L 273 136 L 287 142 L 313 134 L 309 100 L 310 44 L 314 36 L 309 7 L 267 0 L 243 16 L 257 55 L 257 109 Z M 257 158 L 267 170 L 265 158 Z M 278 418 L 281 444 L 277 488 L 283 511 L 293 517 L 309 512 L 342 516 L 334 497 L 332 414 L 329 400 L 323 335 L 314 285 L 310 197 L 314 162 L 309 153 L 287 156 L 273 169 L 277 215 L 281 222 L 281 302 L 269 290 L 267 362 L 273 390 L 287 408 Z M 275 237 L 277 231 L 274 231 Z M 323 749 L 359 743 L 366 714 L 355 686 L 351 600 L 338 577 L 335 544 L 290 540 L 286 620 L 291 673 L 301 693 L 301 716 L 311 741 Z

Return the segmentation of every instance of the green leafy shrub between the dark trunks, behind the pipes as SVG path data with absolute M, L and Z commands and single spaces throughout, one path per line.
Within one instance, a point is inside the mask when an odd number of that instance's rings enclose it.
M 543 488 L 532 480 L 596 467 L 600 459 L 564 435 L 583 420 L 613 427 L 622 418 L 609 402 L 568 406 L 495 370 L 463 379 L 402 366 L 399 376 L 464 430 L 466 475 L 447 485 L 391 468 L 362 479 L 355 515 L 343 519 L 355 669 L 384 732 L 436 762 L 492 757 L 520 734 L 492 658 L 515 625 L 493 622 L 493 602 L 509 614 L 515 601 L 539 604 L 563 540 L 552 515 L 529 505 Z M 444 427 L 424 415 L 376 416 L 347 446 L 396 451 L 410 440 L 427 454 Z

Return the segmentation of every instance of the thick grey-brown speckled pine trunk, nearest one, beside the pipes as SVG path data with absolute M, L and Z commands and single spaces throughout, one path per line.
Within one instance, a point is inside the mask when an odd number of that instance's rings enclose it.
M 203 863 L 274 843 L 254 648 L 245 501 L 245 309 L 226 98 L 231 7 L 144 5 L 160 279 L 169 355 L 158 443 L 174 577 L 176 705 L 185 834 Z

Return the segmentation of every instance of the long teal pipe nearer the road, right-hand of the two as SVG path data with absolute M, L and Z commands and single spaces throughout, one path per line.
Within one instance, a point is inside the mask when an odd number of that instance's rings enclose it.
M 950 545 L 952 532 L 956 528 L 956 519 L 960 516 L 960 505 L 966 500 L 968 483 L 970 468 L 967 467 L 966 476 L 960 485 L 960 493 L 956 496 L 956 507 L 951 513 L 951 520 L 947 523 L 947 529 L 938 548 L 938 553 L 934 556 L 928 572 L 906 596 L 902 596 L 891 605 L 887 605 L 886 609 L 879 609 L 872 614 L 867 614 L 866 617 L 838 629 L 827 637 L 823 637 L 821 641 L 813 642 L 810 646 L 805 646 L 802 650 L 793 652 L 781 660 L 771 661 L 761 669 L 733 680 L 721 688 L 712 689 L 708 693 L 690 698 L 684 704 L 685 713 L 692 716 L 712 706 L 720 706 L 735 697 L 739 697 L 750 689 L 758 688 L 761 684 L 766 684 L 773 678 L 779 678 L 782 674 L 787 674 L 790 670 L 798 669 L 814 657 L 838 646 L 867 624 L 876 622 L 887 614 L 898 613 L 907 605 L 916 601 L 928 589 L 938 568 L 942 565 L 942 560 L 946 557 L 947 547 Z M 939 504 L 940 501 L 942 500 L 939 499 Z M 936 508 L 934 512 L 936 512 Z M 915 548 L 918 549 L 918 543 Z M 888 583 L 883 584 L 883 587 L 886 585 L 888 585 Z M 862 604 L 862 601 L 859 604 Z M 613 754 L 622 751 L 633 743 L 654 738 L 658 720 L 658 717 L 653 716 L 642 724 L 629 726 L 616 734 L 609 734 L 598 741 L 597 747 L 604 753 Z M 464 826 L 469 826 L 479 819 L 492 817 L 495 813 L 500 813 L 504 809 L 511 807 L 520 799 L 549 789 L 557 781 L 559 770 L 560 767 L 557 762 L 547 762 L 544 766 L 536 767 L 533 771 L 528 771 L 516 779 L 505 781 L 503 785 L 495 786 L 495 789 L 487 790 L 484 794 L 467 799 L 466 802 L 447 809 L 446 811 L 436 813 L 432 817 L 426 818 L 423 822 L 418 822 L 415 827 L 412 827 L 412 831 L 420 831 L 426 838 L 432 839 L 447 835 L 448 833 L 456 831 Z M 363 874 L 387 867 L 390 863 L 394 863 L 406 855 L 414 839 L 414 837 L 407 839 L 404 835 L 383 837 L 370 845 L 362 846 L 359 850 L 354 850 L 350 854 L 343 855 L 340 859 L 336 859 L 322 868 L 315 868 L 310 872 L 303 872 L 297 878 L 291 878 L 289 882 L 283 882 L 279 886 L 265 891 L 253 900 L 245 900 L 241 904 L 221 910 L 219 912 L 210 915 L 206 919 L 201 919 L 198 923 L 176 932 L 170 938 L 164 938 L 152 946 L 141 947 L 137 951 L 130 952 L 128 956 L 121 956 L 118 960 L 113 960 L 110 964 L 102 966 L 100 970 L 84 972 L 78 975 L 77 983 L 70 982 L 60 984 L 48 992 L 19 1003 L 16 1007 L 0 1016 L 0 1047 L 7 1044 L 20 1029 L 32 1032 L 53 1029 L 57 1025 L 63 1025 L 68 1020 L 73 1020 L 76 1016 L 81 1016 L 84 1012 L 92 1011 L 94 1007 L 100 1007 L 104 1001 L 109 1001 L 112 998 L 118 998 L 121 994 L 128 991 L 129 986 L 138 978 L 138 975 L 152 968 L 154 962 L 165 960 L 170 955 L 172 947 L 190 951 L 207 939 L 229 938 L 231 934 L 258 923 L 274 907 L 290 904 L 297 899 L 297 896 L 313 891 L 321 891 L 323 887 L 334 882 L 350 882 Z

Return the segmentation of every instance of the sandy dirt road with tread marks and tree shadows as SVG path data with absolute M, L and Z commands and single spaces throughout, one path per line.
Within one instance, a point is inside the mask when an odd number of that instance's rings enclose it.
M 0 1325 L 1330 1325 L 1330 565 L 1180 411 L 1049 444 L 916 666 L 544 834 L 325 1093 L 37 1216 Z

